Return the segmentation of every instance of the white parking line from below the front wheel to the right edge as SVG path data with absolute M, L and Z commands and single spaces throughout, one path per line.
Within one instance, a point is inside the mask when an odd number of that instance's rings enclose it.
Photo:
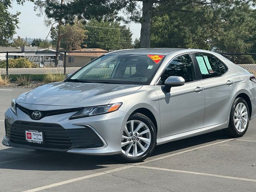
M 192 172 L 192 171 L 182 171 L 182 170 L 175 170 L 175 169 L 165 169 L 165 168 L 157 168 L 157 167 L 148 167 L 148 166 L 137 166 L 137 167 L 152 169 L 152 170 L 170 171 L 170 172 L 187 173 L 187 174 L 194 174 L 194 175 L 203 175 L 203 176 L 219 177 L 219 178 L 225 178 L 225 179 L 256 182 L 256 179 L 247 179 L 247 178 L 240 178 L 240 177 L 231 177 L 231 176 L 224 176 L 224 175 L 199 173 L 199 172 Z

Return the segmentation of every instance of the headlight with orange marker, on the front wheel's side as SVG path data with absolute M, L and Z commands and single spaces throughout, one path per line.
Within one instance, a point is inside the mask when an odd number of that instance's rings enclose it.
M 88 117 L 93 115 L 100 115 L 104 113 L 110 113 L 118 110 L 123 103 L 114 103 L 104 106 L 86 107 L 72 115 L 69 119 L 76 119 L 82 117 Z

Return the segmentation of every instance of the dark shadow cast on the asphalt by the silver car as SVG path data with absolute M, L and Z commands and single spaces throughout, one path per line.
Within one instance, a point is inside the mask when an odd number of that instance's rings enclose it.
M 164 155 L 215 140 L 227 139 L 222 130 L 156 146 L 152 156 Z M 0 150 L 0 169 L 14 170 L 96 170 L 120 164 L 114 156 L 90 156 L 64 152 L 7 148 Z M 19 154 L 21 152 L 21 154 Z

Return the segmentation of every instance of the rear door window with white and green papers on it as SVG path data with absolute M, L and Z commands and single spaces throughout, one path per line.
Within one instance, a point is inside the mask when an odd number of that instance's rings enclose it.
M 220 70 L 214 56 L 206 54 L 195 54 L 202 78 L 220 76 Z

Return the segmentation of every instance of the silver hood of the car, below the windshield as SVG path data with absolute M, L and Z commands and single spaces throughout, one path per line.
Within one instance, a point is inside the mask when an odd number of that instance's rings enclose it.
M 97 106 L 140 89 L 140 85 L 54 82 L 16 98 L 17 103 L 52 106 Z

